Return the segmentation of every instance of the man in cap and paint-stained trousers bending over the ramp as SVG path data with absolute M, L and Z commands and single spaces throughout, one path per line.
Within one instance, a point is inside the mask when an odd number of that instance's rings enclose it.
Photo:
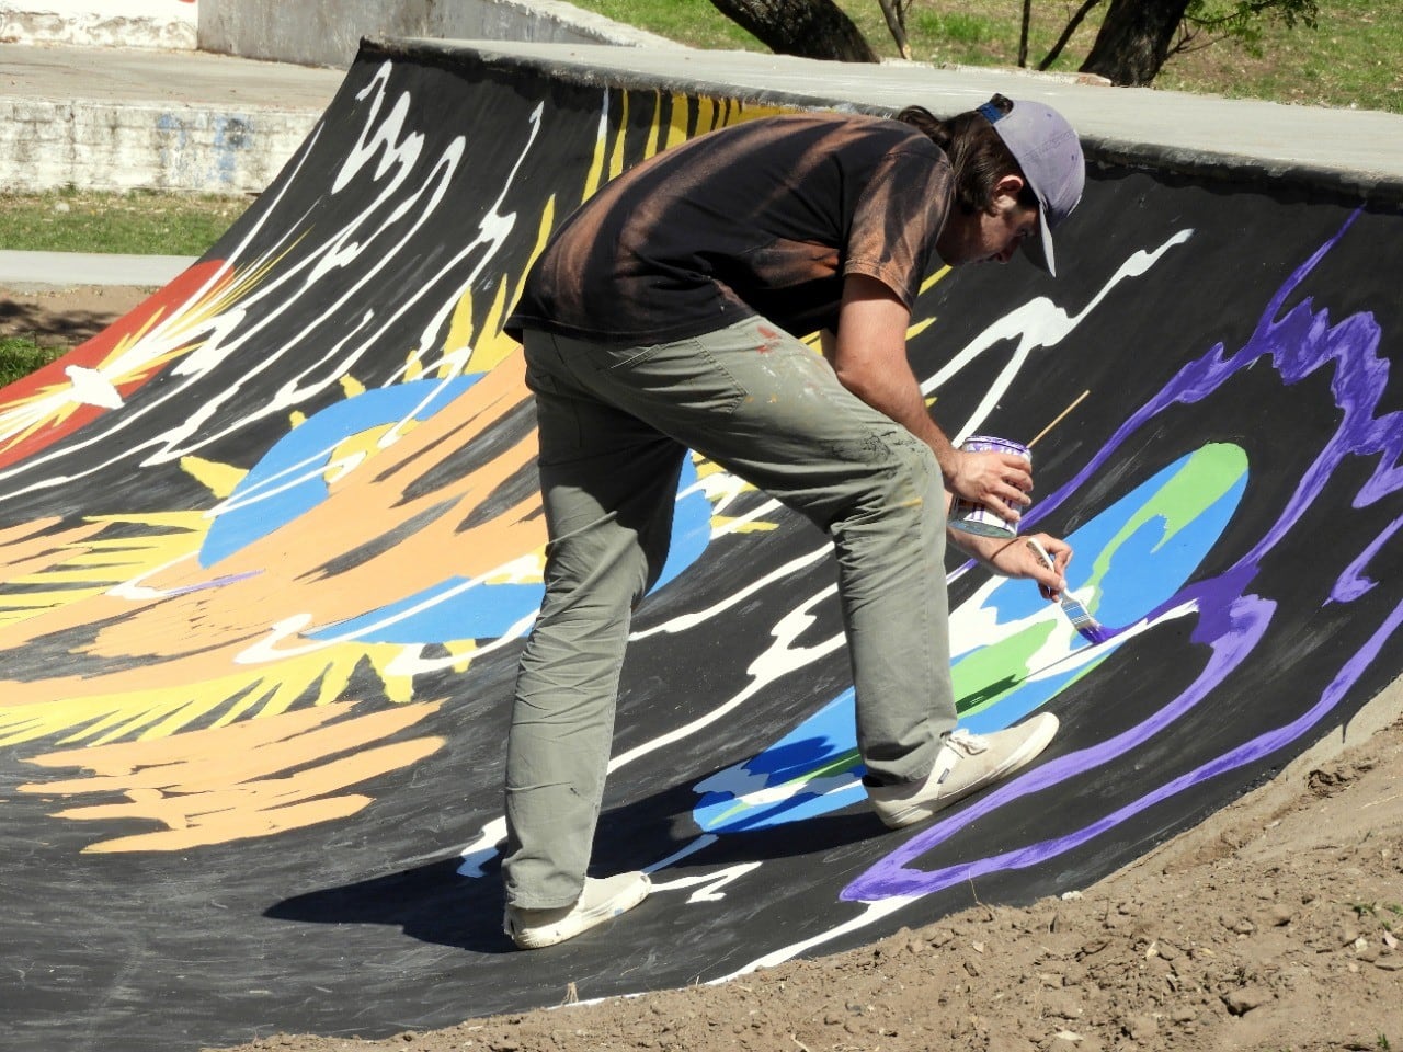
M 995 95 L 941 122 L 790 114 L 699 136 L 606 185 L 532 268 L 508 331 L 536 393 L 546 598 L 522 652 L 506 756 L 505 929 L 571 938 L 648 893 L 586 878 L 630 614 L 662 569 L 682 459 L 721 464 L 833 540 L 868 800 L 892 828 L 1033 760 L 1041 714 L 954 731 L 944 579 L 951 494 L 1016 522 L 1027 461 L 965 453 L 906 360 L 939 262 L 1054 271 L 1082 195 L 1076 133 Z M 819 358 L 797 335 L 821 331 Z M 1070 548 L 951 533 L 1055 598 Z

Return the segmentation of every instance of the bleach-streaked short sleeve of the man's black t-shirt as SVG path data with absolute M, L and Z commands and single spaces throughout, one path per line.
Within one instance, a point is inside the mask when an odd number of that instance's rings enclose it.
M 873 171 L 853 210 L 843 275 L 864 274 L 911 307 L 936 255 L 950 208 L 950 161 L 902 144 Z

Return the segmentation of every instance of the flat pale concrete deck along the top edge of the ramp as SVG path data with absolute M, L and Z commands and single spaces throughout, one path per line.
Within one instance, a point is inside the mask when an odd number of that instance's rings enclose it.
M 1403 116 L 1396 114 L 1114 88 L 1021 70 L 867 66 L 753 52 L 438 39 L 375 39 L 366 46 L 421 62 L 452 63 L 467 52 L 474 62 L 544 70 L 570 83 L 655 87 L 769 105 L 892 112 L 916 102 L 948 115 L 1002 91 L 1056 107 L 1093 161 L 1385 206 L 1403 203 Z

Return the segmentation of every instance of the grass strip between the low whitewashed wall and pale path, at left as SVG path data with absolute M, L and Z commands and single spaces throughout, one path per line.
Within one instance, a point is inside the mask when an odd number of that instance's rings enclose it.
M 0 194 L 0 248 L 121 255 L 203 255 L 248 206 L 244 196 Z

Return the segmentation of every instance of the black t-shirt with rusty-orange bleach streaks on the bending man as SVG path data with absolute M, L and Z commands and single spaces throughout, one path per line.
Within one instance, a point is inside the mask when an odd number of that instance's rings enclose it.
M 915 128 L 788 114 L 711 132 L 609 182 L 560 227 L 508 332 L 685 339 L 753 314 L 833 330 L 843 278 L 909 307 L 950 206 L 944 153 Z

